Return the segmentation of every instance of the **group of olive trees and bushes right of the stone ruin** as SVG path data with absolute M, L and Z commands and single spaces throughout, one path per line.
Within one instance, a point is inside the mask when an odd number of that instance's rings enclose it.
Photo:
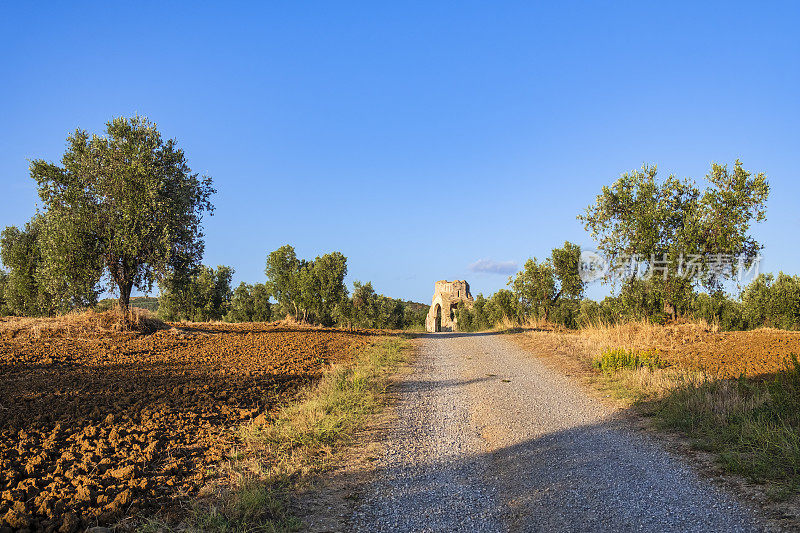
M 680 315 L 724 329 L 800 329 L 800 277 L 761 274 L 732 297 L 724 288 L 733 270 L 709 264 L 736 257 L 740 267 L 752 266 L 762 246 L 749 230 L 765 219 L 768 196 L 764 174 L 744 170 L 740 161 L 733 169 L 713 164 L 702 190 L 691 180 L 661 180 L 654 166 L 624 174 L 603 187 L 578 217 L 612 267 L 606 281 L 614 284 L 613 296 L 600 302 L 584 298 L 581 250 L 567 242 L 544 261 L 529 259 L 509 279 L 512 290 L 488 300 L 479 295 L 472 310 L 461 309 L 459 327 L 492 325 L 503 303 L 503 316 L 511 320 L 536 317 L 568 327 L 643 318 L 665 322 Z M 657 268 L 658 275 L 642 279 L 635 270 L 625 270 L 619 259 L 631 256 L 639 258 L 642 270 Z M 693 276 L 681 271 L 685 257 L 693 257 Z M 487 307 L 491 302 L 496 303 Z

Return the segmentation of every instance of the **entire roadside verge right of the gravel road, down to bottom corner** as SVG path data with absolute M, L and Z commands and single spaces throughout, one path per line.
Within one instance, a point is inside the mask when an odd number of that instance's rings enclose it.
M 736 336 L 694 324 L 637 325 L 633 333 L 606 329 L 539 329 L 508 337 L 760 509 L 771 526 L 800 527 L 800 369 L 791 351 L 783 368 L 753 375 L 732 376 L 722 365 L 708 364 L 716 362 L 713 351 L 723 343 L 746 351 L 747 343 L 783 340 L 787 333 Z M 742 356 L 723 362 L 748 363 Z

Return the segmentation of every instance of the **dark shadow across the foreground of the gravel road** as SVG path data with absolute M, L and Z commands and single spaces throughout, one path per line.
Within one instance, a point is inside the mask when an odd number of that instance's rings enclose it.
M 614 421 L 487 453 L 405 458 L 362 488 L 356 531 L 757 530 L 729 496 Z

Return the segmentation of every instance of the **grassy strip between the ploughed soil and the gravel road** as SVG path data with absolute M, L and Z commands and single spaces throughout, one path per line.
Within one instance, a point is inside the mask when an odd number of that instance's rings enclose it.
M 354 354 L 350 364 L 332 368 L 272 420 L 240 427 L 240 446 L 221 468 L 223 482 L 191 505 L 187 521 L 173 527 L 150 520 L 138 530 L 296 531 L 300 523 L 287 507 L 292 488 L 330 467 L 385 405 L 388 378 L 410 351 L 401 337 L 381 338 Z

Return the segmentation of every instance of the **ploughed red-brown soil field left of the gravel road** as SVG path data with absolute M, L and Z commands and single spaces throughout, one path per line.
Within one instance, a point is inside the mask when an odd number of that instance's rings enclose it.
M 76 531 L 169 510 L 209 481 L 232 430 L 367 342 L 268 324 L 0 328 L 0 524 Z

